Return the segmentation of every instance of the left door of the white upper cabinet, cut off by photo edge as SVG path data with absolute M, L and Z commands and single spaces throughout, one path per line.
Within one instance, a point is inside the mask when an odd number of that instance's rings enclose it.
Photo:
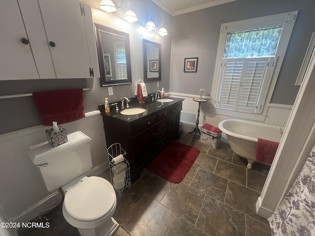
M 0 80 L 38 79 L 31 44 L 17 1 L 0 1 L 0 32 Z

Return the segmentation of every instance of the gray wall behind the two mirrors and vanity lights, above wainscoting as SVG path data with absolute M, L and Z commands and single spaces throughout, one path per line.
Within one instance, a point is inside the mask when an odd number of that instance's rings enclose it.
M 100 87 L 99 80 L 97 80 L 94 91 L 84 92 L 85 111 L 98 110 L 97 106 L 104 103 L 105 97 L 109 97 L 109 102 L 111 103 L 120 100 L 121 97 L 131 98 L 134 96 L 137 81 L 143 79 L 143 38 L 162 44 L 162 81 L 159 83 L 159 87 L 157 87 L 156 82 L 147 83 L 147 90 L 149 93 L 152 93 L 164 87 L 165 91 L 169 91 L 172 17 L 150 0 L 131 0 L 133 11 L 136 13 L 139 21 L 129 24 L 120 19 L 124 14 L 121 9 L 118 9 L 116 14 L 106 13 L 98 10 L 100 1 L 83 1 L 93 7 L 95 23 L 129 33 L 132 73 L 132 84 L 114 86 L 114 95 L 112 96 L 108 95 L 107 87 Z M 124 4 L 128 8 L 128 2 L 124 1 Z M 157 33 L 142 33 L 143 26 L 150 20 L 152 14 L 156 23 L 158 20 L 162 20 L 163 27 L 169 31 L 168 35 L 161 37 Z M 3 60 L 4 58 L 0 56 L 0 59 Z M 85 79 L 0 81 L 0 95 L 85 87 Z M 0 134 L 41 124 L 32 96 L 0 99 L 0 108 Z

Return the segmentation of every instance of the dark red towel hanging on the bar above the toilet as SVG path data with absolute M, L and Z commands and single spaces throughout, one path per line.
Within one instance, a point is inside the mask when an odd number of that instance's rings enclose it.
M 85 117 L 83 89 L 33 92 L 43 125 L 68 123 Z

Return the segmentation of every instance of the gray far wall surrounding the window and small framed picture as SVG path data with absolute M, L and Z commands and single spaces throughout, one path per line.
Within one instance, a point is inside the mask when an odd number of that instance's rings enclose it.
M 271 103 L 293 105 L 294 86 L 312 32 L 313 0 L 237 0 L 173 17 L 170 90 L 197 94 L 211 87 L 222 23 L 299 10 Z M 197 73 L 184 73 L 184 58 L 198 57 Z

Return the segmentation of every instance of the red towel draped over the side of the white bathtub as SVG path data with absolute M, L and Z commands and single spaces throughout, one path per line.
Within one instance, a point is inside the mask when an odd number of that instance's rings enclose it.
M 278 146 L 278 142 L 258 138 L 256 161 L 271 165 L 276 155 Z

